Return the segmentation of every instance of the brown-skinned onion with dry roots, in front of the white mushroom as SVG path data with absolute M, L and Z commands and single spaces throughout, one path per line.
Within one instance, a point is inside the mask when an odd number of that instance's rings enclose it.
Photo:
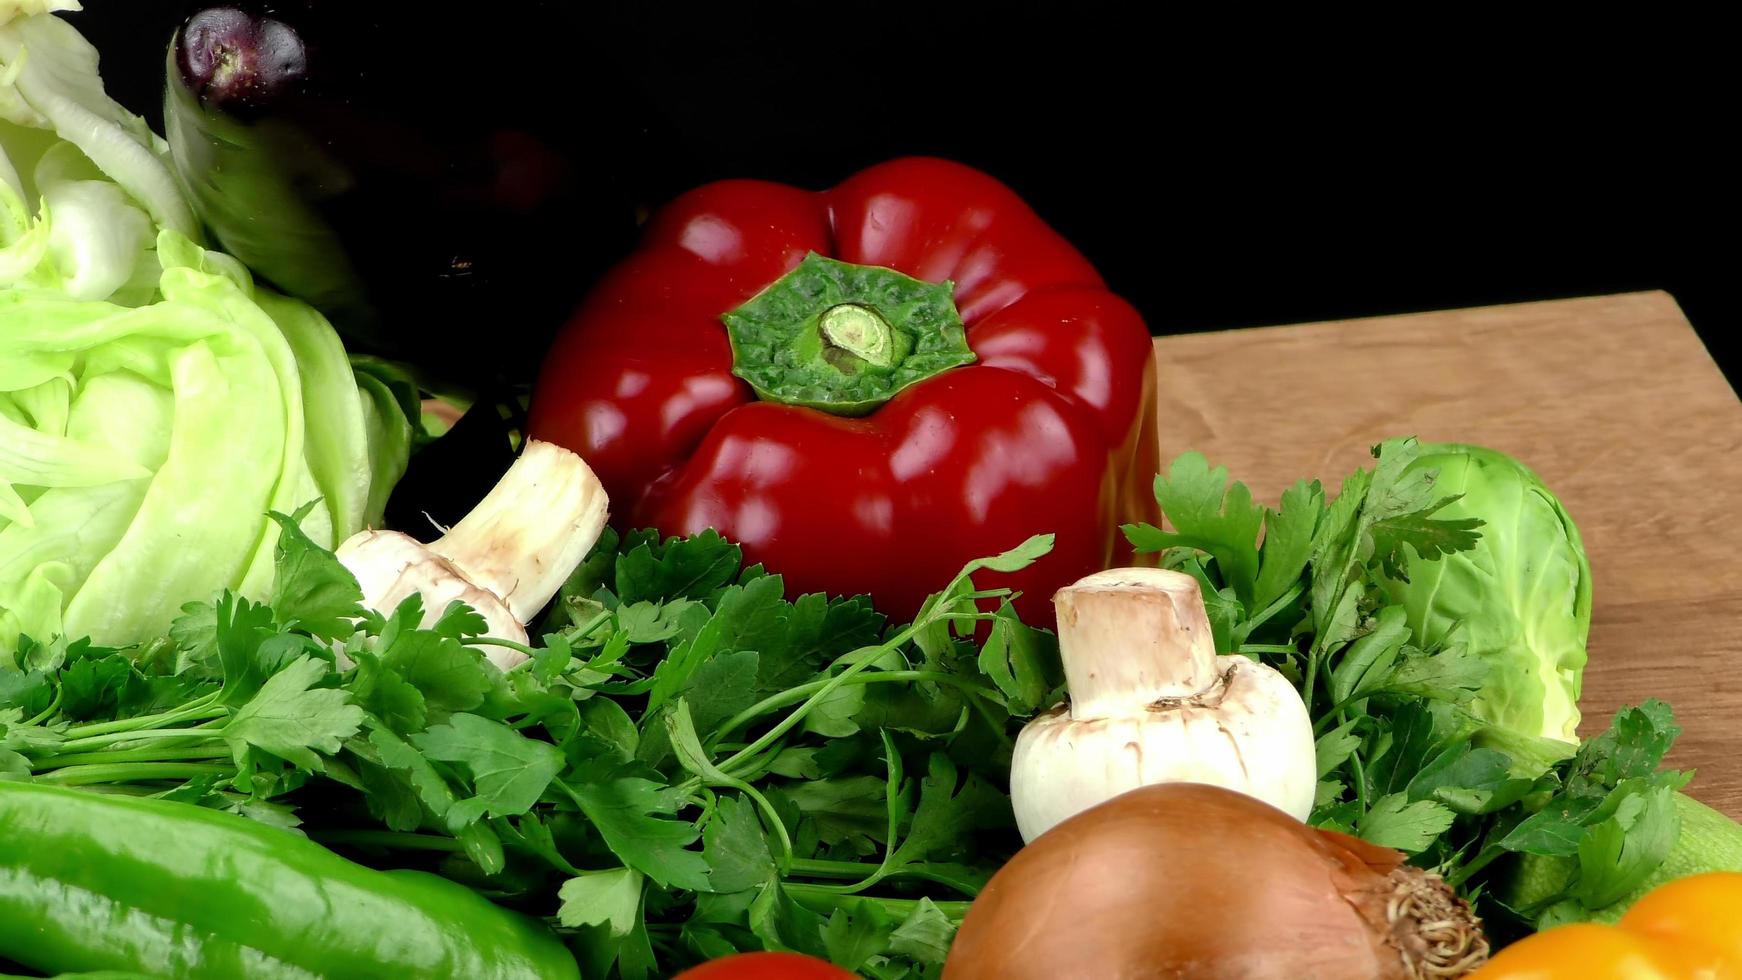
M 1023 848 L 969 909 L 944 980 L 1437 978 L 1486 959 L 1470 907 L 1402 853 L 1164 783 Z

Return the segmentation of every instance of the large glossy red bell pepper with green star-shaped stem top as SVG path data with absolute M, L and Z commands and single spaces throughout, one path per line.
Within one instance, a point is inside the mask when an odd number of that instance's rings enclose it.
M 894 616 L 1052 531 L 998 580 L 1050 621 L 1057 587 L 1129 555 L 1120 522 L 1157 519 L 1141 317 L 946 160 L 679 197 L 559 334 L 530 428 L 592 465 L 618 524 L 714 527 L 794 592 Z

